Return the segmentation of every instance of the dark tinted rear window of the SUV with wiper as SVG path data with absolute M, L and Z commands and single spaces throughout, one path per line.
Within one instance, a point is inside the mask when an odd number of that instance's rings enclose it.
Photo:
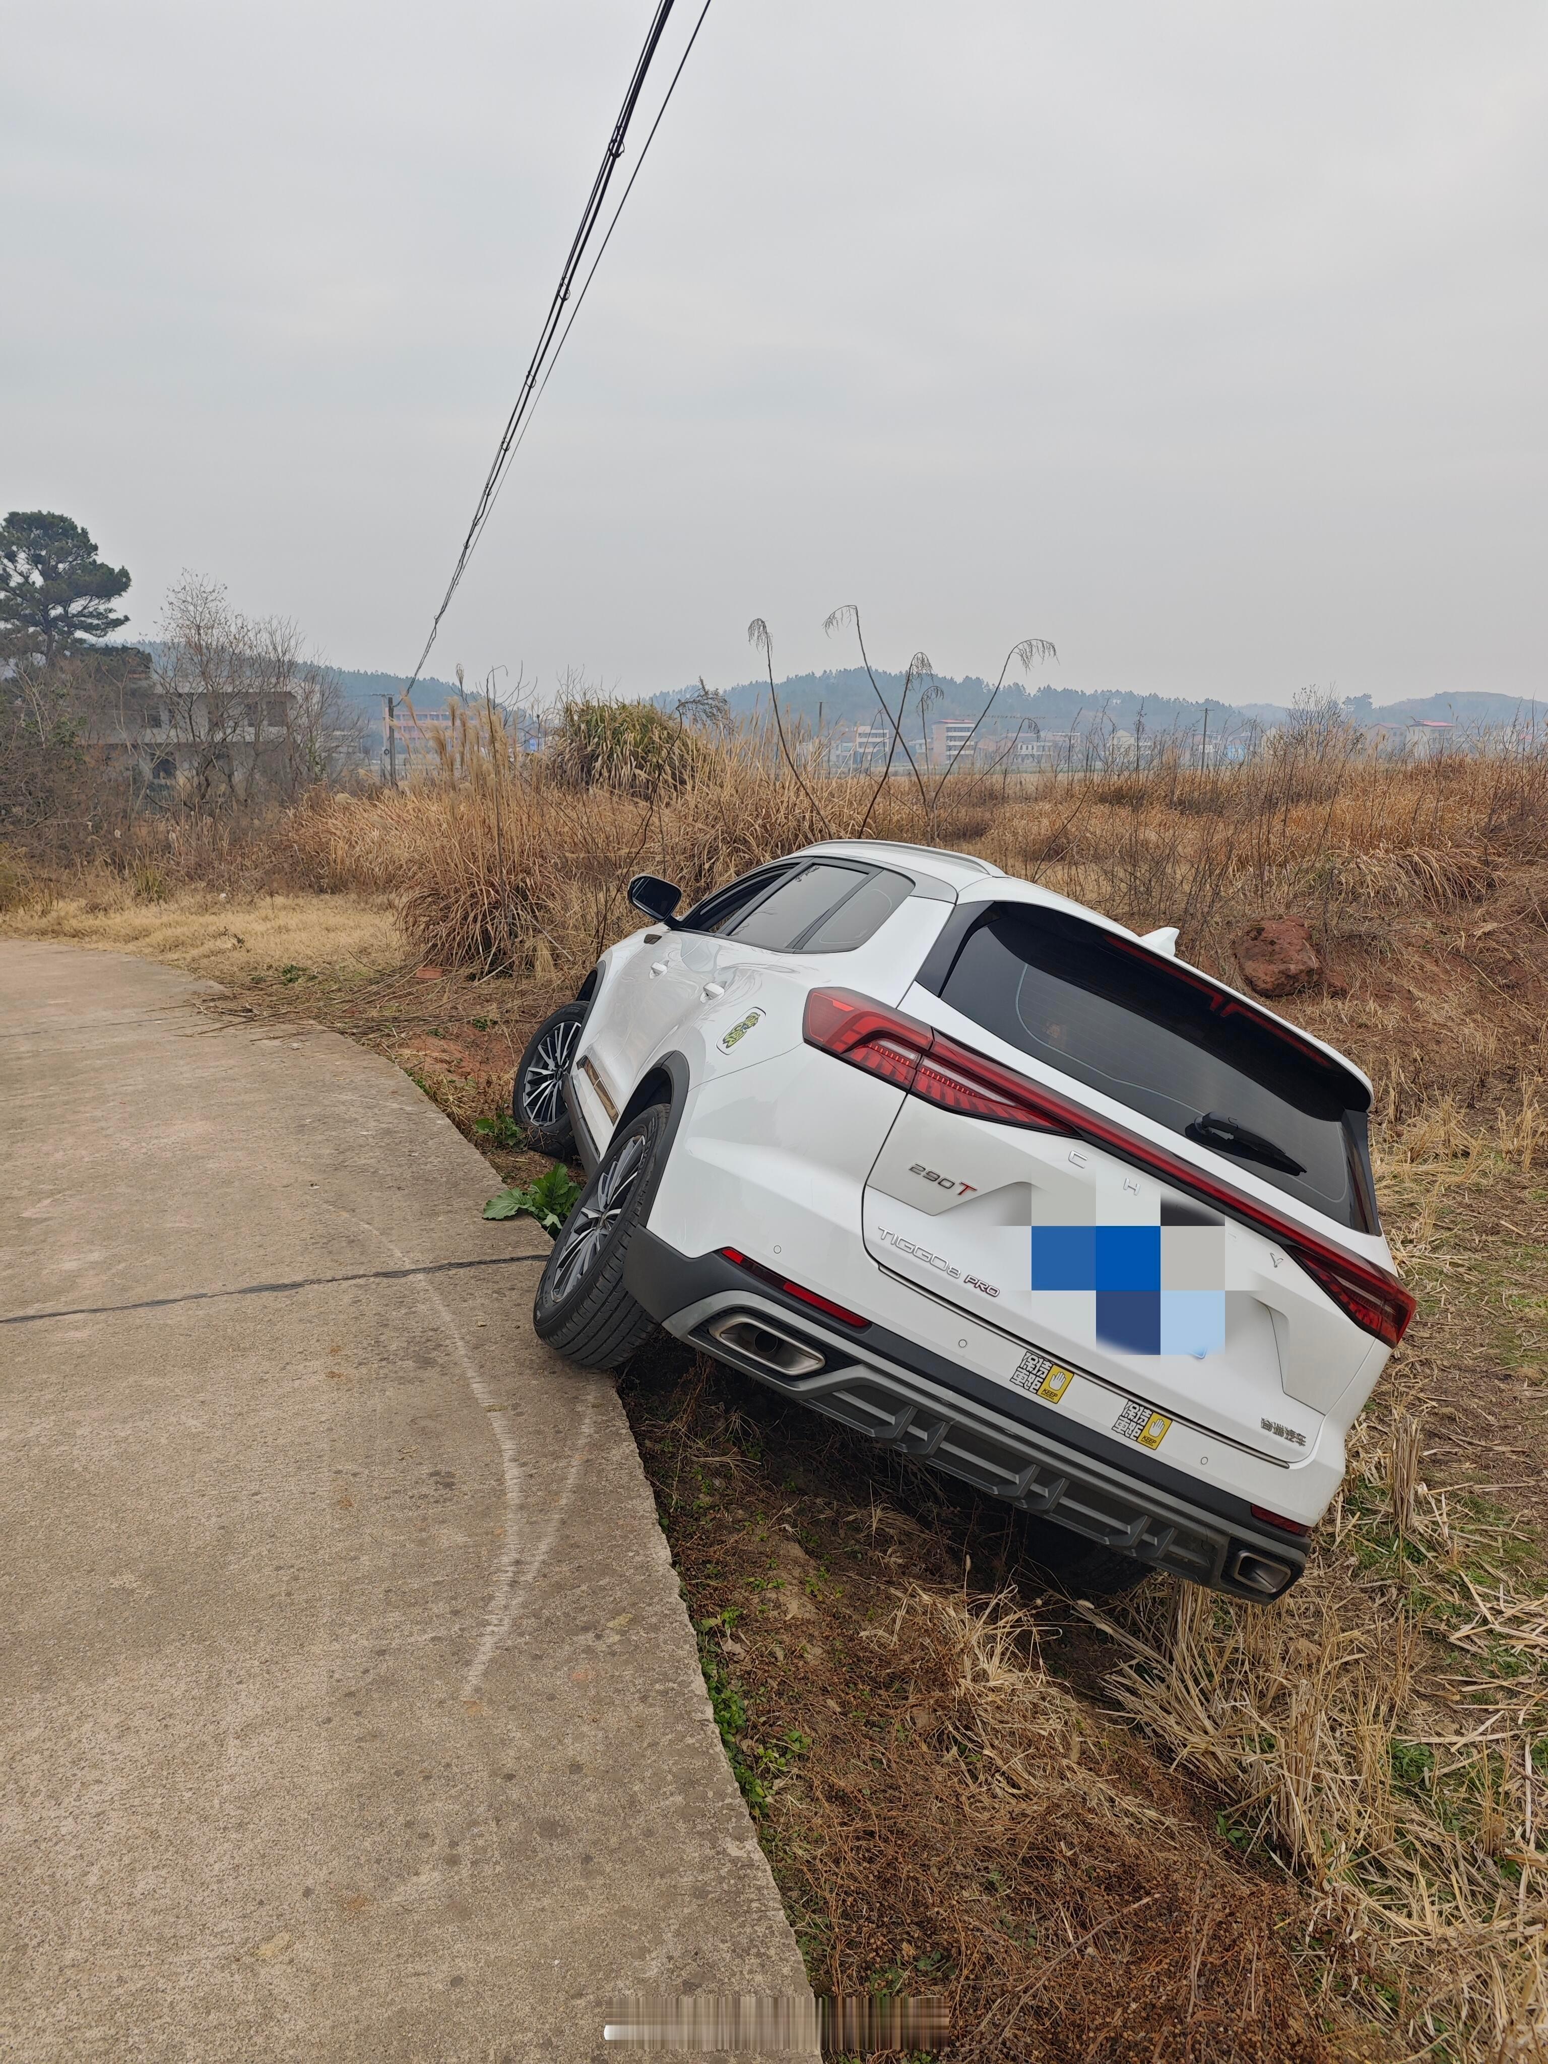
M 921 982 L 1022 1053 L 1377 1230 L 1364 1084 L 1201 976 L 1063 910 L 991 904 Z

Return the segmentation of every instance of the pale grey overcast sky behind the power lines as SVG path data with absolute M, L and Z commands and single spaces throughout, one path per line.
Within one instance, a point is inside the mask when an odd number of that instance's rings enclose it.
M 0 508 L 407 671 L 648 17 L 0 0 Z M 1544 694 L 1546 217 L 1540 0 L 714 0 L 429 671 Z

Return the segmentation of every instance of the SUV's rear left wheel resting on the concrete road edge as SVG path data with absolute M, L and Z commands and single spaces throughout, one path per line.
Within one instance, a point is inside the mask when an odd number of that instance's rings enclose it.
M 623 1261 L 650 1205 L 665 1137 L 665 1104 L 613 1133 L 539 1278 L 533 1329 L 582 1368 L 617 1368 L 656 1323 L 623 1288 Z

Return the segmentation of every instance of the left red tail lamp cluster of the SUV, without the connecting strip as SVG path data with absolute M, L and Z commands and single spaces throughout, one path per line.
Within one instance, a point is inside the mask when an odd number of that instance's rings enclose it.
M 927 1104 L 964 1119 L 993 1119 L 1042 1133 L 1073 1127 L 1059 1104 L 1026 1075 L 999 1067 L 982 1053 L 960 1046 L 943 1032 L 859 997 L 852 989 L 813 989 L 807 997 L 805 1038 L 836 1061 L 923 1096 Z

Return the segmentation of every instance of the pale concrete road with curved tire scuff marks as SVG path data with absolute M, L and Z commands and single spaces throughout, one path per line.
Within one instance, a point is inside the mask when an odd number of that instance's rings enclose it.
M 0 943 L 0 2056 L 601 2058 L 609 1992 L 805 1990 L 545 1236 L 211 989 Z

